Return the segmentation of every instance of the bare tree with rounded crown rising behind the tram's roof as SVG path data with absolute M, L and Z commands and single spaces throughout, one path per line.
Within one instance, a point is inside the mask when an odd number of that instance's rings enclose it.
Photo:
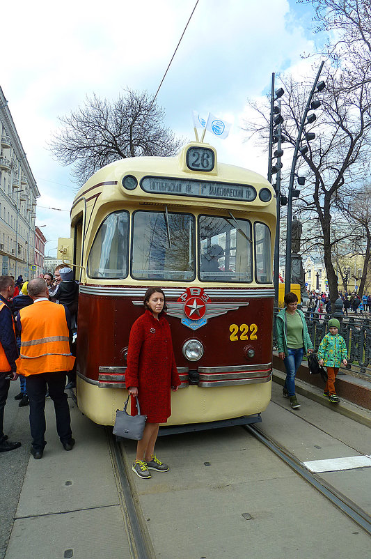
M 118 158 L 175 155 L 182 145 L 164 128 L 164 110 L 146 92 L 127 90 L 116 101 L 93 94 L 84 106 L 59 118 L 50 148 L 63 165 L 74 164 L 72 174 L 83 184 L 89 176 Z

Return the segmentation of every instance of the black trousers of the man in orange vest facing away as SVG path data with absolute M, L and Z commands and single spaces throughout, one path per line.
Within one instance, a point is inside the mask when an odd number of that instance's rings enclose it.
M 47 388 L 56 412 L 56 431 L 61 443 L 67 443 L 72 436 L 70 408 L 65 393 L 65 371 L 40 373 L 26 376 L 27 395 L 30 401 L 30 427 L 32 446 L 43 450 L 45 441 L 45 395 Z

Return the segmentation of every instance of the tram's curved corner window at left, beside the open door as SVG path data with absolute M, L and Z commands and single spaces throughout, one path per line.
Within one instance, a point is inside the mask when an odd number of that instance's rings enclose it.
M 129 214 L 125 211 L 106 217 L 88 257 L 88 276 L 121 280 L 127 277 L 129 246 Z

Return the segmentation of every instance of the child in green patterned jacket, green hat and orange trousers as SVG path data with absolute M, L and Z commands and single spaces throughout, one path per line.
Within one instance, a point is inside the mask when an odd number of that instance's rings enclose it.
M 331 404 L 338 404 L 340 399 L 335 391 L 335 379 L 339 372 L 341 362 L 347 365 L 347 344 L 345 339 L 338 333 L 340 322 L 338 319 L 329 320 L 329 333 L 324 336 L 318 349 L 319 365 L 327 369 L 327 382 L 324 388 L 324 396 L 329 398 Z

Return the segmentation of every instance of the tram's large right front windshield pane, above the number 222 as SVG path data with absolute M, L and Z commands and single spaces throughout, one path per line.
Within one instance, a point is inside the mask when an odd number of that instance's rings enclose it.
M 252 282 L 251 223 L 200 215 L 200 280 Z

